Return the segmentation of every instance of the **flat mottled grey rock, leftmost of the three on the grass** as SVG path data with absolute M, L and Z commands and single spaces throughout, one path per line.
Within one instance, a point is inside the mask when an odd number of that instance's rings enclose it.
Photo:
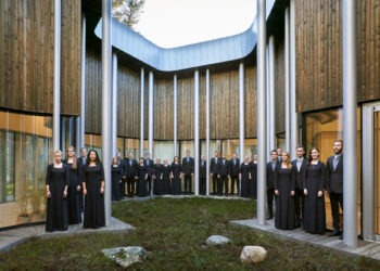
M 104 248 L 102 253 L 123 268 L 127 268 L 135 262 L 142 262 L 148 254 L 141 246 Z

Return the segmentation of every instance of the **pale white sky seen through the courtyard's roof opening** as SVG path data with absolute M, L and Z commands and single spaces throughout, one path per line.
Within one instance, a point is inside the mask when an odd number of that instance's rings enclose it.
M 136 30 L 153 43 L 173 48 L 246 30 L 256 0 L 147 0 Z

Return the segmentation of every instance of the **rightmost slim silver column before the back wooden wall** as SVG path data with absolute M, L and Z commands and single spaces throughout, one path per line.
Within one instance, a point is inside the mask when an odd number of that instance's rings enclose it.
M 244 64 L 239 64 L 239 144 L 240 144 L 240 163 L 244 160 Z M 241 181 L 239 180 L 239 196 L 241 194 Z

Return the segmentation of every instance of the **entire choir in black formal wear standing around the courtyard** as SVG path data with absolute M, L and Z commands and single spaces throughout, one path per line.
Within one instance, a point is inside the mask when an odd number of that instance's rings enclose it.
M 319 151 L 313 147 L 308 158 L 304 158 L 305 149 L 296 147 L 296 158 L 291 162 L 288 152 L 281 149 L 270 152 L 267 164 L 267 207 L 268 217 L 273 219 L 273 202 L 276 204 L 275 225 L 278 229 L 291 230 L 302 227 L 306 232 L 324 234 L 326 231 L 325 194 L 330 198 L 334 231 L 331 236 L 341 235 L 339 205 L 343 209 L 343 142 L 333 144 L 334 155 L 325 164 L 319 160 Z M 210 173 L 213 191 L 216 195 L 257 197 L 257 155 L 245 156 L 240 164 L 237 154 L 232 159 L 226 155 L 218 156 L 215 151 L 211 159 Z M 200 194 L 206 194 L 206 162 L 201 156 L 199 166 Z M 190 152 L 180 163 L 175 156 L 169 165 L 167 159 L 156 158 L 150 154 L 139 162 L 129 153 L 123 159 L 122 154 L 113 158 L 112 201 L 125 196 L 179 195 L 181 180 L 185 180 L 185 194 L 191 194 L 194 159 Z M 230 184 L 230 185 L 229 185 Z M 105 225 L 104 217 L 104 169 L 98 153 L 80 150 L 80 158 L 75 149 L 68 147 L 66 159 L 62 160 L 61 151 L 54 152 L 54 163 L 47 169 L 47 231 L 64 231 L 68 224 L 81 222 L 84 228 Z M 85 198 L 85 199 L 84 199 Z

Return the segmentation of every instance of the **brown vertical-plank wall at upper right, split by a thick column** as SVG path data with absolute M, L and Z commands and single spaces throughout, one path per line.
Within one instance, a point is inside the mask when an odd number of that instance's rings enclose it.
M 380 99 L 380 1 L 356 3 L 357 100 L 364 102 Z M 295 1 L 295 24 L 297 111 L 342 105 L 342 0 Z

